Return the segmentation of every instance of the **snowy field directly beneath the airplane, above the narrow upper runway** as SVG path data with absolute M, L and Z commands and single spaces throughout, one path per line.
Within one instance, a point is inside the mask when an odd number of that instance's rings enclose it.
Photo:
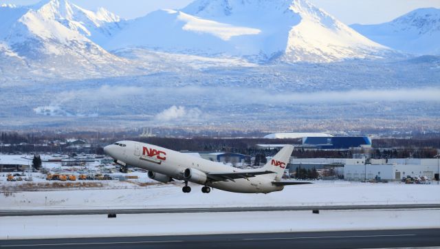
M 16 184 L 3 182 L 2 186 Z M 362 184 L 316 182 L 286 186 L 270 194 L 239 194 L 215 190 L 203 194 L 201 186 L 183 184 L 138 186 L 107 182 L 104 188 L 65 188 L 58 191 L 5 192 L 0 195 L 2 210 L 92 209 L 92 208 L 209 208 L 240 206 L 329 206 L 373 204 L 440 204 L 440 186 L 413 184 Z M 109 189 L 113 188 L 113 189 Z M 8 193 L 8 194 L 6 194 Z

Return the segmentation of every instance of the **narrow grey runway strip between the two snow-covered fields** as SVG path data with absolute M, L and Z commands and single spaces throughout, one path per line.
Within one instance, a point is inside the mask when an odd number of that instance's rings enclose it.
M 231 208 L 139 208 L 139 209 L 58 209 L 58 210 L 0 210 L 4 216 L 34 215 L 106 215 L 148 214 L 148 213 L 224 213 L 224 212 L 261 212 L 261 211 L 301 211 L 301 210 L 401 210 L 440 208 L 440 204 L 403 204 L 403 205 L 355 205 L 355 206 L 248 206 Z

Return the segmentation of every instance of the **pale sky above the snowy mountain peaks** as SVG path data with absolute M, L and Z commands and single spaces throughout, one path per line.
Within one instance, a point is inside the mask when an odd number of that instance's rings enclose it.
M 125 19 L 142 17 L 162 8 L 179 9 L 192 0 L 70 0 L 89 10 L 107 8 Z M 391 21 L 416 8 L 440 8 L 440 0 L 309 0 L 346 24 L 375 24 Z M 29 5 L 39 0 L 0 0 L 1 3 Z

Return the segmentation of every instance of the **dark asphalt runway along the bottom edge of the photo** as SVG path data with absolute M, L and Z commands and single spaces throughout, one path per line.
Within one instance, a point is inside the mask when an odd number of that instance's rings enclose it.
M 214 226 L 208 225 L 208 226 Z M 0 241 L 0 248 L 435 248 L 440 229 Z

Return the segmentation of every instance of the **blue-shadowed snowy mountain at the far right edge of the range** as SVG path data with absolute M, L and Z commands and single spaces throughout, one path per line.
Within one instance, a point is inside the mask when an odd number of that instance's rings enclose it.
M 440 9 L 421 8 L 382 24 L 353 24 L 369 39 L 411 54 L 440 55 Z

